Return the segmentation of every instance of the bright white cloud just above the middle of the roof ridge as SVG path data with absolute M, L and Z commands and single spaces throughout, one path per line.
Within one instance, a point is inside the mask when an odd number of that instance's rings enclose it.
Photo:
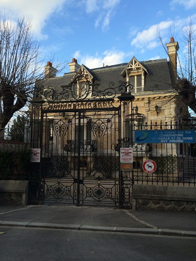
M 74 54 L 79 64 L 84 64 L 89 68 L 102 67 L 103 64 L 105 66 L 120 64 L 124 62 L 126 56 L 123 51 L 118 50 L 106 50 L 101 56 L 99 54 L 95 56 L 81 55 L 80 50 L 77 50 Z

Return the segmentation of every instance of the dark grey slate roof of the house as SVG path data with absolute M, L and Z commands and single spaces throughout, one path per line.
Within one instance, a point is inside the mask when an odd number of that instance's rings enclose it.
M 148 71 L 148 73 L 145 72 L 144 92 L 173 89 L 167 59 L 142 61 L 140 63 Z M 110 82 L 113 82 L 117 87 L 119 86 L 119 81 L 126 81 L 126 79 L 121 76 L 121 72 L 128 64 L 129 63 L 122 63 L 94 69 L 83 66 L 93 75 L 94 83 L 100 84 L 99 89 L 105 90 L 108 88 Z M 69 85 L 75 74 L 76 72 L 69 72 L 64 73 L 61 77 L 47 79 L 44 81 L 43 86 L 52 86 L 56 91 L 61 91 L 61 86 Z M 134 93 L 133 90 L 132 93 Z

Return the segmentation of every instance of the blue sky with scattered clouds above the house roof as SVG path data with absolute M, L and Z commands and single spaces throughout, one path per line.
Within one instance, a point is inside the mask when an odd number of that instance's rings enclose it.
M 182 58 L 181 28 L 190 15 L 196 29 L 196 0 L 0 0 L 0 8 L 12 21 L 31 18 L 45 64 L 51 53 L 89 68 L 129 62 L 133 56 L 139 61 L 167 58 L 157 30 L 166 43 L 174 27 Z

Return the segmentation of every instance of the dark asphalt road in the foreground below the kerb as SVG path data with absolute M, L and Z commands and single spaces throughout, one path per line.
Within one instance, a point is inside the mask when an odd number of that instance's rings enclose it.
M 0 227 L 1 261 L 194 261 L 196 238 Z

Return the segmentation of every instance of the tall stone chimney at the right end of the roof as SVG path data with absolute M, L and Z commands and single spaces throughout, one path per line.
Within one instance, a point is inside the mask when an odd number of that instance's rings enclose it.
M 177 51 L 179 50 L 178 42 L 174 41 L 174 37 L 170 38 L 170 42 L 166 43 L 168 49 L 169 63 L 173 81 L 176 81 L 177 73 Z

